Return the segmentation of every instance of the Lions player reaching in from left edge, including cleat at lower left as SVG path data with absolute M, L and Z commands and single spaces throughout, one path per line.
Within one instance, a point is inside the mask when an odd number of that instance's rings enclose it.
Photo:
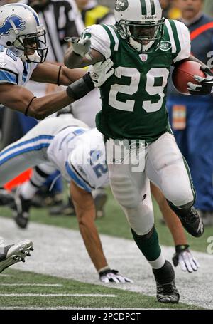
M 38 15 L 31 7 L 23 4 L 1 6 L 0 105 L 43 119 L 82 98 L 114 72 L 110 70 L 111 62 L 106 61 L 103 65 L 97 66 L 94 71 L 95 80 L 92 80 L 89 74 L 85 74 L 82 70 L 72 71 L 64 66 L 43 63 L 47 51 L 45 29 L 40 25 Z M 82 79 L 77 80 L 82 76 Z M 23 88 L 30 78 L 38 82 L 50 82 L 68 85 L 68 87 L 66 91 L 35 98 L 33 93 Z M 73 83 L 75 80 L 77 82 Z M 0 247 L 1 272 L 13 263 L 24 261 L 33 244 L 27 240 L 10 246 L 1 244 Z

